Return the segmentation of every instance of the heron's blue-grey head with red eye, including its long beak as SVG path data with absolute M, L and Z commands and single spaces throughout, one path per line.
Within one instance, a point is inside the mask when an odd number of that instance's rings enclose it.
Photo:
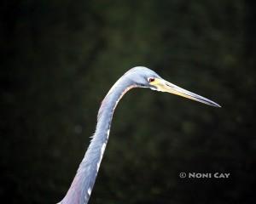
M 157 73 L 152 70 L 149 70 L 143 66 L 137 66 L 132 68 L 130 71 L 127 71 L 126 74 L 129 74 L 129 78 L 138 86 L 142 88 L 151 88 L 152 90 L 166 92 L 170 94 L 176 94 L 183 96 L 184 98 L 193 99 L 198 102 L 212 105 L 215 107 L 220 107 L 217 103 L 213 102 L 210 99 L 206 99 L 198 94 L 189 92 L 183 88 L 180 88 L 174 85 L 171 82 L 167 82 Z

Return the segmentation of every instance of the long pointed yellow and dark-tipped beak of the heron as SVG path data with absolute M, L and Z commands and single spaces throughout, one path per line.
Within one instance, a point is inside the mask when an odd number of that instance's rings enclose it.
M 156 90 L 161 92 L 167 92 L 167 93 L 183 96 L 185 98 L 193 99 L 206 105 L 221 107 L 220 105 L 216 104 L 210 99 L 207 99 L 200 95 L 189 92 L 183 88 L 179 88 L 176 85 L 172 84 L 171 82 L 167 82 L 164 79 L 154 78 L 154 82 L 150 82 L 150 84 L 153 85 L 156 88 Z

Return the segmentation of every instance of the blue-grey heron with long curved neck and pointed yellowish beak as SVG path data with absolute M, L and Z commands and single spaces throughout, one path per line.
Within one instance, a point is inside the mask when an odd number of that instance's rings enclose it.
M 220 107 L 210 99 L 204 98 L 180 88 L 171 82 L 167 82 L 154 71 L 143 66 L 136 66 L 119 78 L 110 88 L 108 94 L 102 100 L 98 111 L 96 132 L 90 140 L 90 145 L 85 152 L 79 169 L 73 178 L 73 182 L 61 204 L 87 204 L 90 199 L 91 190 L 95 184 L 96 176 L 101 165 L 102 157 L 108 143 L 113 111 L 119 100 L 131 88 L 150 88 L 155 91 L 177 94 L 179 96 L 193 99 L 195 101 Z

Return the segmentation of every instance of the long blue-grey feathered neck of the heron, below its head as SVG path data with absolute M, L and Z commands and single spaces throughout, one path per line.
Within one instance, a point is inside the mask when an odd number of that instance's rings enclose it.
M 119 102 L 119 99 L 131 88 L 135 86 L 125 77 L 121 77 L 113 88 L 111 88 L 102 101 L 98 112 L 96 133 L 91 139 L 88 150 L 85 153 L 83 161 L 73 183 L 71 184 L 67 195 L 60 202 L 61 204 L 86 204 L 89 201 L 90 193 L 96 180 L 97 173 L 102 161 L 108 135 L 110 131 L 113 111 Z

